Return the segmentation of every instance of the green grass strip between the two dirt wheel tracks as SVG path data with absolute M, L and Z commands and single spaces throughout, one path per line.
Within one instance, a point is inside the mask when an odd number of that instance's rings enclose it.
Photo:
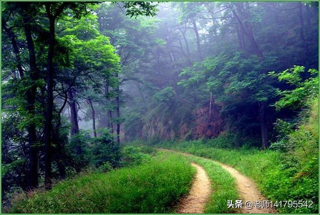
M 205 205 L 205 213 L 229 213 L 232 208 L 227 208 L 227 200 L 233 202 L 238 197 L 234 178 L 218 163 L 196 156 L 188 159 L 201 165 L 211 180 L 212 194 Z

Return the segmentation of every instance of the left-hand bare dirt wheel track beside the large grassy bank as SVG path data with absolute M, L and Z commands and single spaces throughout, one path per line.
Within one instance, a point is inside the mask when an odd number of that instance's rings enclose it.
M 211 194 L 211 182 L 204 169 L 195 163 L 191 165 L 196 168 L 195 178 L 189 194 L 179 203 L 178 213 L 203 213 L 204 204 Z

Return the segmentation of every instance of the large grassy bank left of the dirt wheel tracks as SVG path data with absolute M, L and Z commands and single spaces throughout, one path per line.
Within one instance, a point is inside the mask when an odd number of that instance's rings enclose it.
M 61 182 L 13 205 L 14 213 L 167 213 L 188 192 L 195 169 L 182 155 Z

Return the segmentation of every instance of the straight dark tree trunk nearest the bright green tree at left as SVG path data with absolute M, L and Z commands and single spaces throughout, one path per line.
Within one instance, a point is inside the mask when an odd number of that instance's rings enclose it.
M 48 14 L 49 18 L 49 38 L 47 55 L 47 107 L 44 129 L 44 186 L 45 189 L 51 189 L 51 134 L 52 134 L 52 116 L 53 116 L 53 55 L 54 55 L 54 23 L 55 18 Z

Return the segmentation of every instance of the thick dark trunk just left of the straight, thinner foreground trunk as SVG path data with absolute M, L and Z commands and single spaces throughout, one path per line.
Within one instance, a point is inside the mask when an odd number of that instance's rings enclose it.
M 36 87 L 34 85 L 34 82 L 38 79 L 39 71 L 36 67 L 36 59 L 35 59 L 35 51 L 34 51 L 34 44 L 33 39 L 31 36 L 31 28 L 29 25 L 30 18 L 27 15 L 27 12 L 23 13 L 23 24 L 24 24 L 24 33 L 25 38 L 27 41 L 27 49 L 29 52 L 29 66 L 30 66 L 30 74 L 29 77 L 32 81 L 32 85 L 29 89 L 26 91 L 26 100 L 27 100 L 27 111 L 31 115 L 31 117 L 34 117 L 35 115 L 35 94 L 36 94 Z M 16 47 L 17 48 L 17 47 Z M 18 50 L 17 50 L 18 51 Z M 19 60 L 19 57 L 17 57 L 17 60 Z M 21 67 L 21 64 L 19 64 L 19 67 Z M 21 68 L 20 68 L 21 69 Z M 20 73 L 19 69 L 19 73 Z M 22 75 L 22 76 L 21 76 Z M 23 73 L 20 73 L 20 77 L 23 77 Z M 35 124 L 31 123 L 28 128 L 28 142 L 29 142 L 29 148 L 30 148 L 30 154 L 29 154 L 29 172 L 28 172 L 28 186 L 29 188 L 35 188 L 38 186 L 38 173 L 37 173 L 37 166 L 38 166 L 38 150 L 35 146 L 36 142 L 36 129 Z

